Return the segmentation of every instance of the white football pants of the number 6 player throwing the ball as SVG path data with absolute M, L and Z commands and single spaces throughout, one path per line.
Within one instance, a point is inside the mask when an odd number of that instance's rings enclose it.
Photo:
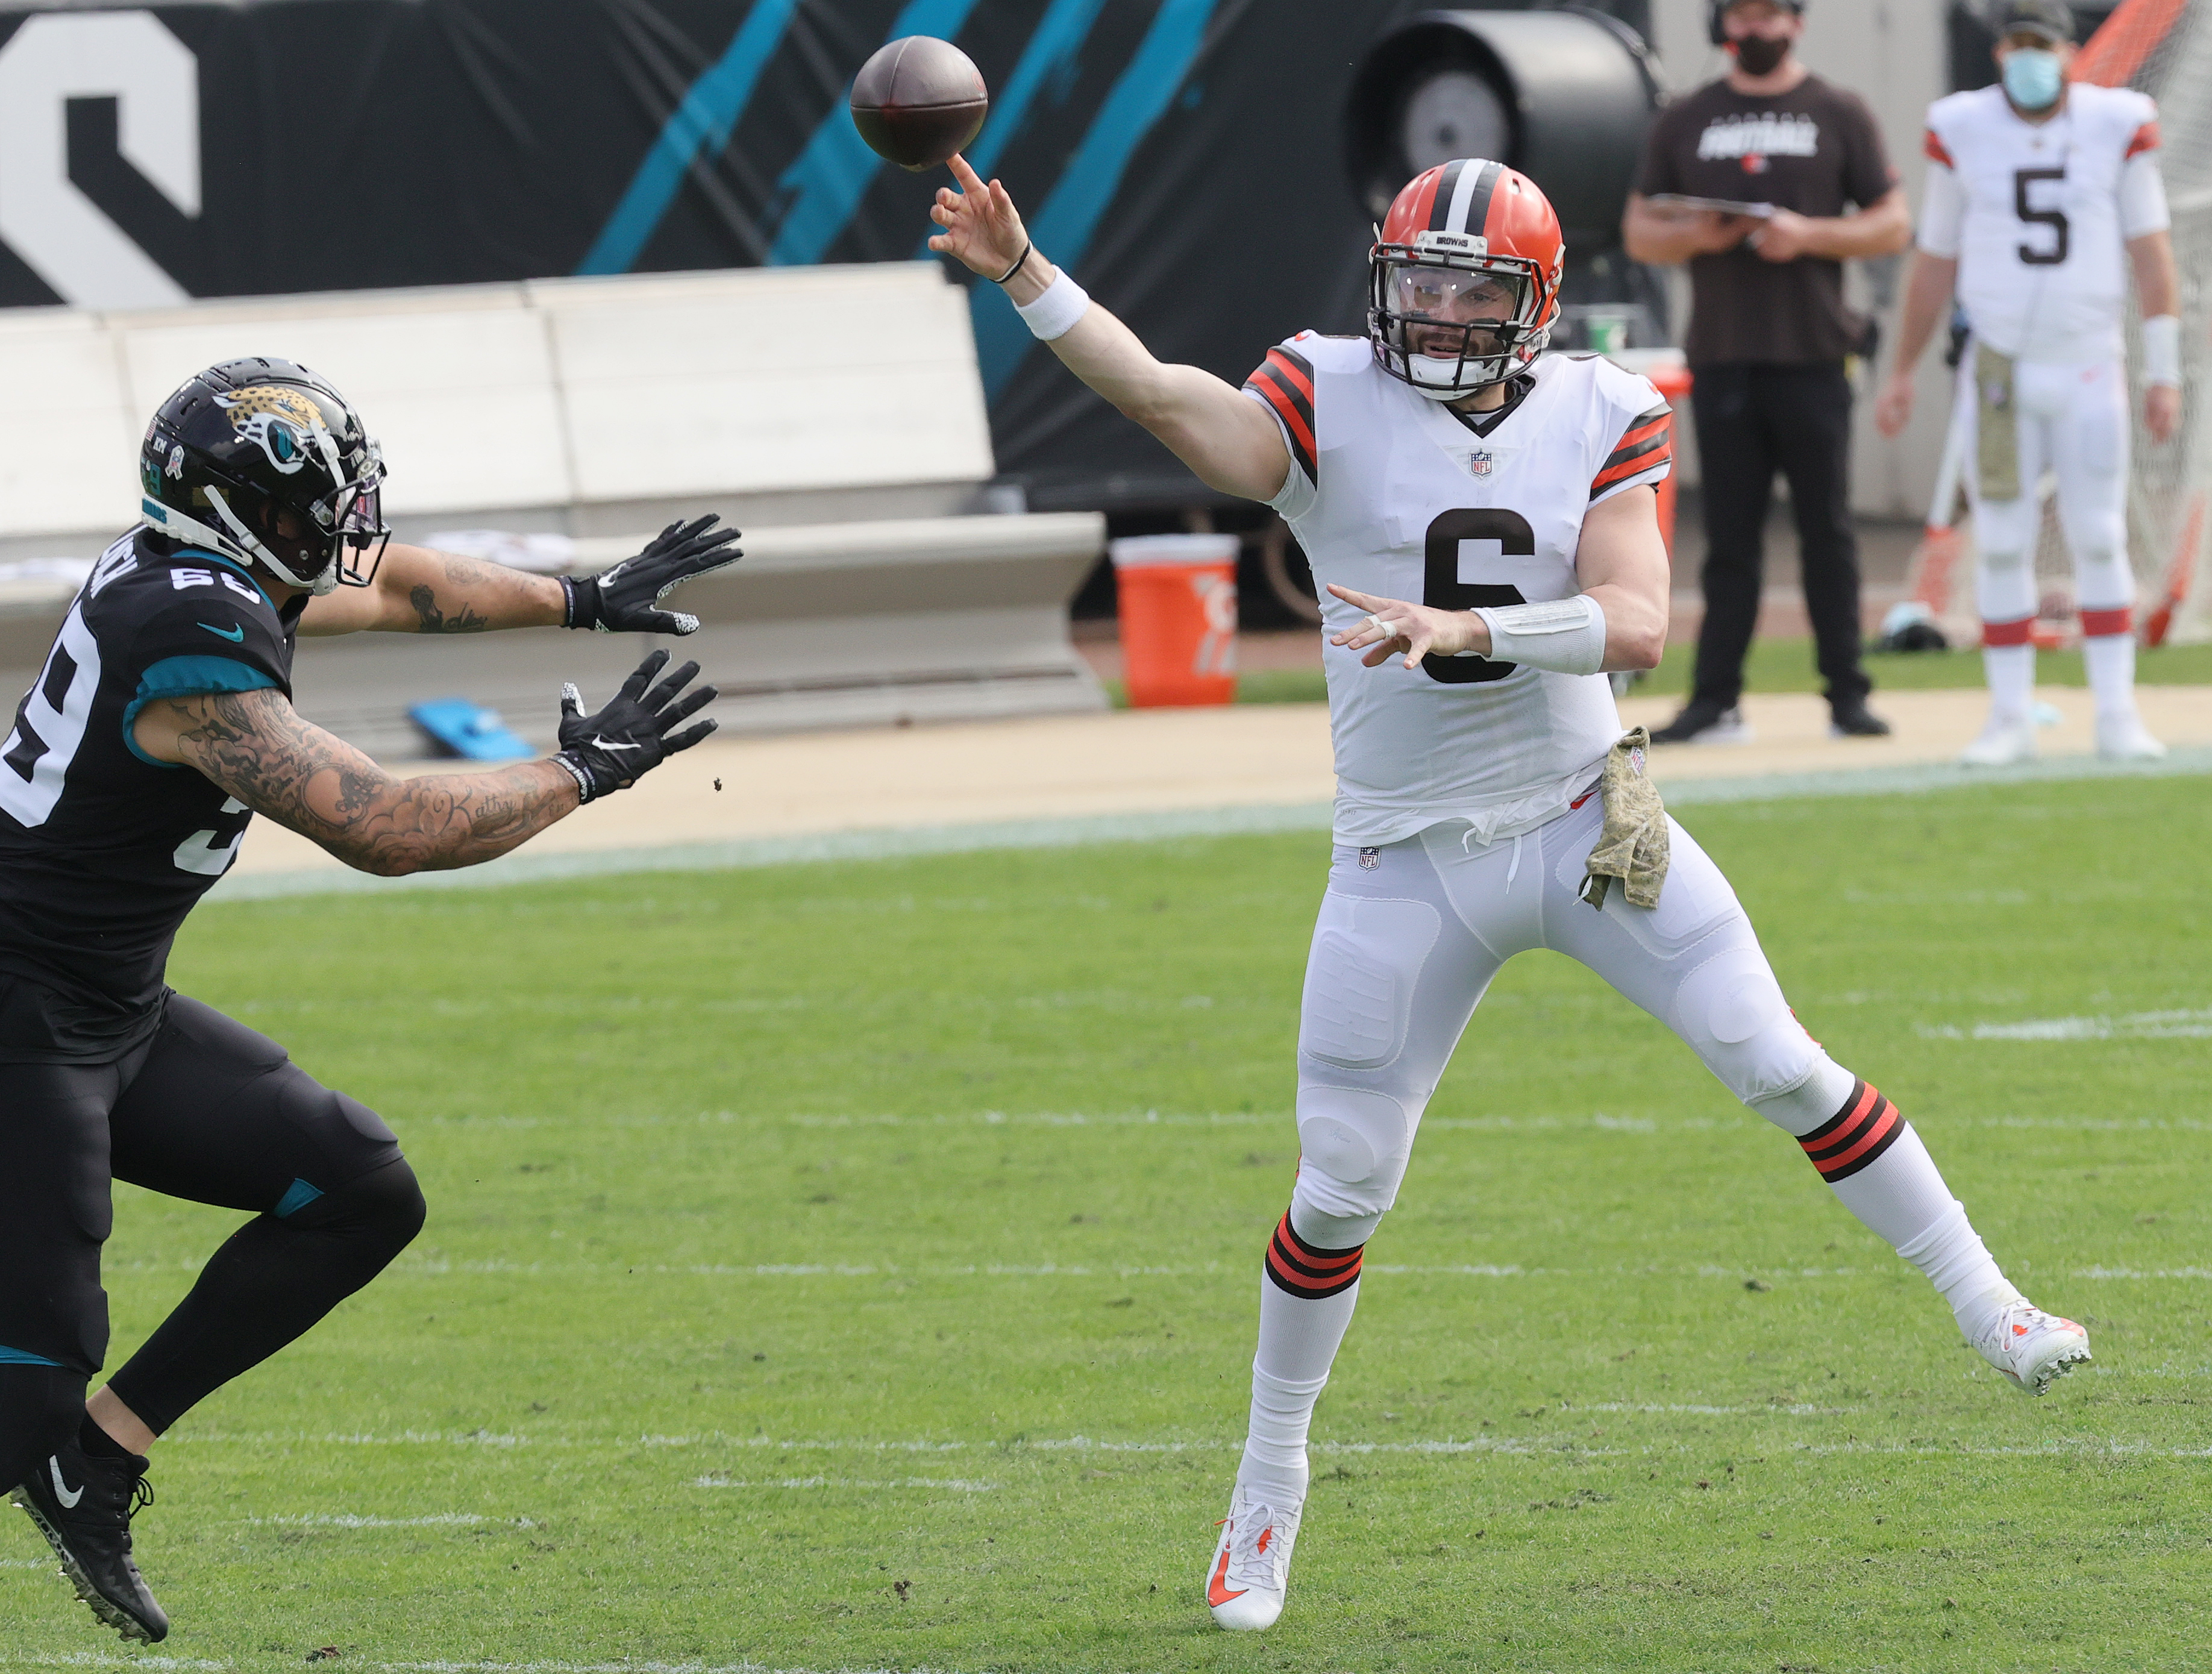
M 1599 825 L 1593 794 L 1489 847 L 1464 843 L 1464 820 L 1378 849 L 1338 845 L 1298 1030 L 1303 1161 L 1290 1221 L 1301 1238 L 1323 1249 L 1367 1241 L 1467 1019 L 1498 966 L 1526 949 L 1590 966 L 1785 1132 L 1807 1134 L 1845 1108 L 1854 1077 L 1790 1015 L 1736 891 L 1688 831 L 1668 823 L 1659 907 L 1630 907 L 1619 885 L 1604 911 L 1577 898 Z

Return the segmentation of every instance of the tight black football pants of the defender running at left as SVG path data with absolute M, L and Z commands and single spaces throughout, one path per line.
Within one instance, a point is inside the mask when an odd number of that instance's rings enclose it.
M 157 1433 L 422 1227 L 383 1119 L 197 1000 L 170 995 L 155 1037 L 115 1064 L 0 1064 L 0 1490 L 77 1429 L 106 1360 L 111 1179 L 254 1216 L 111 1378 Z

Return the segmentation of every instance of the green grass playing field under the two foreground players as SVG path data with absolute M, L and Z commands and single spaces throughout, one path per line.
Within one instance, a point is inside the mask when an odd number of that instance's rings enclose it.
M 161 1663 L 2199 1670 L 2205 781 L 1692 807 L 2097 1367 L 2031 1402 L 1553 955 L 1429 1108 L 1290 1610 L 1208 1625 L 1318 836 L 212 907 L 420 1243 L 157 1459 Z M 119 1192 L 128 1349 L 234 1216 Z M 0 1665 L 128 1661 L 9 1513 Z M 155 1663 L 155 1659 L 144 1659 Z

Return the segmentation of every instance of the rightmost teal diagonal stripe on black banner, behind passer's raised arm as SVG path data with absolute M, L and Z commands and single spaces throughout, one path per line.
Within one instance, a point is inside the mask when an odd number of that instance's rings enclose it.
M 1106 206 L 1121 190 L 1130 157 L 1190 73 L 1217 4 L 1219 0 L 1159 0 L 1152 27 L 1099 106 L 1091 133 L 1075 148 L 1044 208 L 1029 217 L 1029 234 L 1053 263 L 1073 268 L 1084 259 Z M 995 396 L 1035 338 L 998 285 L 973 285 L 969 307 L 975 318 L 982 387 Z

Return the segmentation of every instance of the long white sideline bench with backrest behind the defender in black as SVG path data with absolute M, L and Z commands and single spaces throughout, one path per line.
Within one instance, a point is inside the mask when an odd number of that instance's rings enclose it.
M 973 515 L 991 433 L 967 301 L 936 263 L 0 310 L 0 356 L 33 391 L 0 414 L 0 566 L 86 559 L 133 524 L 153 409 L 241 354 L 299 360 L 354 400 L 403 540 L 560 533 L 593 571 L 679 515 L 745 529 L 739 571 L 684 599 L 708 621 L 686 650 L 726 690 L 726 728 L 1104 705 L 1066 635 L 1104 520 Z M 11 690 L 71 590 L 0 579 Z M 557 630 L 303 641 L 299 699 L 380 754 L 420 750 L 405 714 L 431 697 L 491 703 L 549 743 L 560 681 L 604 690 L 641 650 Z

